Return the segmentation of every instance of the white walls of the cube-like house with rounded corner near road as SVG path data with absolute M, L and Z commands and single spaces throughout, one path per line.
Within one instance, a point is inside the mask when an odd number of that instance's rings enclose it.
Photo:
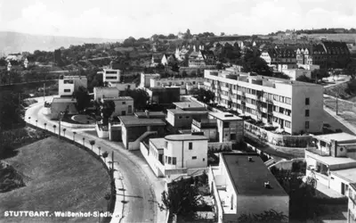
M 192 149 L 189 149 L 189 144 Z M 166 157 L 176 158 L 176 164 L 169 164 Z M 193 159 L 196 157 L 196 159 Z M 207 167 L 207 140 L 192 141 L 169 141 L 165 149 L 165 167 L 166 169 L 176 168 L 206 168 Z

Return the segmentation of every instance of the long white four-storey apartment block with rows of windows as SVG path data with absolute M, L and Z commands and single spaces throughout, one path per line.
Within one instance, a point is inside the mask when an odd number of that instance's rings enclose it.
M 289 134 L 320 132 L 323 87 L 227 70 L 205 70 L 204 85 L 227 108 L 284 129 Z

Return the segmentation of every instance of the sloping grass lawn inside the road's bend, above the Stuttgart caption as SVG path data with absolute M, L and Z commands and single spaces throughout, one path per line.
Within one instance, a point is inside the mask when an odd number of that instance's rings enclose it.
M 107 211 L 109 174 L 89 153 L 48 137 L 5 160 L 25 185 L 0 194 L 4 211 Z M 0 222 L 98 222 L 98 218 L 6 218 Z

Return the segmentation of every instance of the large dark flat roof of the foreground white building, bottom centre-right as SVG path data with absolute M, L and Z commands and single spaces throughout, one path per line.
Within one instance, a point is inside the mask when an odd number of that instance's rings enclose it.
M 287 196 L 257 153 L 221 153 L 237 194 Z M 248 161 L 252 157 L 253 161 Z M 264 187 L 269 182 L 271 188 Z

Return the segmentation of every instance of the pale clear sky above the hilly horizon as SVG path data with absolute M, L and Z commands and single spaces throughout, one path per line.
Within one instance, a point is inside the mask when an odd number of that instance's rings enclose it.
M 355 0 L 0 0 L 0 30 L 29 34 L 151 37 L 356 27 Z

